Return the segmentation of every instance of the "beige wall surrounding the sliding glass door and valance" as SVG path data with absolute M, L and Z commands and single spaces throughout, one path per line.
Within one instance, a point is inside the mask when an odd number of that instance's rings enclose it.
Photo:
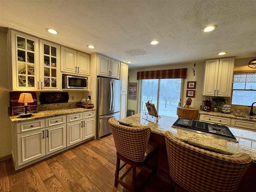
M 186 64 L 174 64 L 174 65 L 165 65 L 165 66 L 158 66 L 158 67 L 148 67 L 148 68 L 136 68 L 133 70 L 128 71 L 128 82 L 138 82 L 137 88 L 137 99 L 128 99 L 127 101 L 127 109 L 132 109 L 137 113 L 138 109 L 138 92 L 140 90 L 139 81 L 137 80 L 137 72 L 138 71 L 152 71 L 152 70 L 167 70 L 167 69 L 180 69 L 180 68 L 187 68 L 187 78 L 184 79 L 184 84 L 182 86 L 183 93 L 182 93 L 182 105 L 187 100 L 186 97 L 186 90 L 187 90 L 187 82 L 188 81 L 196 81 L 196 92 L 195 98 L 192 98 L 191 107 L 199 108 L 202 104 L 202 100 L 205 96 L 202 96 L 202 83 L 203 83 L 203 76 L 204 76 L 204 62 L 196 62 L 195 72 L 196 75 L 193 74 L 194 62 L 193 63 L 186 63 Z

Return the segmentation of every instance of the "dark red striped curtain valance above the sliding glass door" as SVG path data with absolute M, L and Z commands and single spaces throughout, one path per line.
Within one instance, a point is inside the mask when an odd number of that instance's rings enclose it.
M 174 79 L 187 77 L 187 68 L 137 72 L 137 79 Z

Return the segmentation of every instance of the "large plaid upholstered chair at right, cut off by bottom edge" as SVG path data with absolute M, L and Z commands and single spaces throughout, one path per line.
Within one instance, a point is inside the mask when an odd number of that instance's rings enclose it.
M 186 144 L 165 133 L 166 149 L 175 191 L 235 192 L 251 157 L 238 153 L 223 155 Z

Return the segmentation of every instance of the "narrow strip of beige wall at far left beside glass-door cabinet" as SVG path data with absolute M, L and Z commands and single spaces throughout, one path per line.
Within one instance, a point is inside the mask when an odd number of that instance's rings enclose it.
M 11 153 L 6 39 L 7 33 L 0 29 L 0 157 Z

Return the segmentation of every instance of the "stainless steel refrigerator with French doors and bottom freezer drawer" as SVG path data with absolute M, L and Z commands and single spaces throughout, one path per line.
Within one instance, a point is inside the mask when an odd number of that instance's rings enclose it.
M 120 119 L 121 81 L 98 77 L 97 138 L 110 134 L 108 120 Z

